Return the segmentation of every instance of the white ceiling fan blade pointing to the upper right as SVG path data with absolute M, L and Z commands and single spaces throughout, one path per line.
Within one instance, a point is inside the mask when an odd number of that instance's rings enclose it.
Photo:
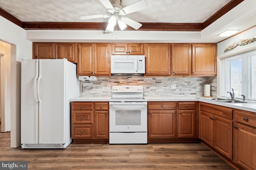
M 126 6 L 120 10 L 120 15 L 130 14 L 132 12 L 136 12 L 139 10 L 144 10 L 148 8 L 148 4 L 145 0 L 140 0 L 138 2 L 135 2 L 129 6 Z

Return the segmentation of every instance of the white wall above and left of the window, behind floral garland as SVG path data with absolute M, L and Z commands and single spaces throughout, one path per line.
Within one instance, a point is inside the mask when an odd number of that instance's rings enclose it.
M 224 50 L 230 45 L 232 45 L 236 40 L 252 39 L 252 38 L 256 38 L 256 27 L 248 29 L 247 31 L 244 31 L 234 37 L 226 39 L 225 41 L 222 41 L 217 44 L 217 97 L 220 97 L 220 91 L 221 91 L 220 88 L 222 87 L 222 82 L 220 81 L 220 75 L 221 75 L 220 59 L 254 50 L 256 49 L 256 41 L 249 43 L 247 45 L 238 45 L 234 49 L 227 52 L 224 52 Z

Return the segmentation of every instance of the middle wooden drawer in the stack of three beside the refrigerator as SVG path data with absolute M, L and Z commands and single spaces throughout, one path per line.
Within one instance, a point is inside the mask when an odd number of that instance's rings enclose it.
M 74 124 L 92 124 L 93 116 L 92 110 L 86 111 L 72 111 L 72 123 Z

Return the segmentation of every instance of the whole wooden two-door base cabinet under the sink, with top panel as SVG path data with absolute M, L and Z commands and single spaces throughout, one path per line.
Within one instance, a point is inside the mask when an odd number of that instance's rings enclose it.
M 201 102 L 199 137 L 232 159 L 232 109 Z

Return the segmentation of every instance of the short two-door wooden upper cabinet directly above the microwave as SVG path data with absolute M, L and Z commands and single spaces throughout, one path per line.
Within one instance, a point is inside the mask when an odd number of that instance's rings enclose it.
M 112 44 L 112 55 L 144 55 L 144 44 Z

